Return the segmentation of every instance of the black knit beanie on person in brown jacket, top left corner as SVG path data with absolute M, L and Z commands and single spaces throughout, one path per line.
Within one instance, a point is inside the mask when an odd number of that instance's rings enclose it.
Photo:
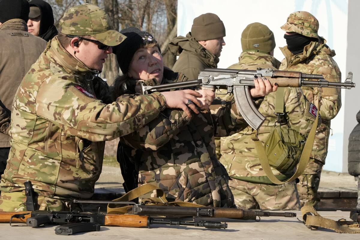
M 20 18 L 29 20 L 30 6 L 26 0 L 0 0 L 0 22 Z

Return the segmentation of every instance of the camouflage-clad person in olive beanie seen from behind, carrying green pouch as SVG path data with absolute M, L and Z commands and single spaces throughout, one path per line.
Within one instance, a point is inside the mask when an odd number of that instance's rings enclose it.
M 272 68 L 277 69 L 280 62 L 274 58 L 275 39 L 273 32 L 264 24 L 251 23 L 241 35 L 243 52 L 239 62 L 231 65 L 231 69 Z M 258 130 L 258 138 L 264 144 L 277 121 L 275 116 L 275 96 L 272 92 L 265 96 L 259 111 L 266 117 Z M 284 90 L 285 119 L 281 122 L 307 136 L 315 117 L 309 113 L 310 103 L 300 88 L 287 87 Z M 298 209 L 300 207 L 296 182 L 283 185 L 271 185 L 261 167 L 255 145 L 251 140 L 252 128 L 235 133 L 229 137 L 221 137 L 220 162 L 225 166 L 232 181 L 230 189 L 234 194 L 235 203 L 242 209 Z M 218 149 L 218 148 L 217 148 Z M 274 175 L 291 175 L 293 172 L 280 173 L 272 168 Z M 284 179 L 285 180 L 285 179 Z M 283 180 L 283 181 L 284 181 Z

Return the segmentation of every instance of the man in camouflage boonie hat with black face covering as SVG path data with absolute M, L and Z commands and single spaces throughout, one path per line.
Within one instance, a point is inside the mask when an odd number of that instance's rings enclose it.
M 326 40 L 318 35 L 319 22 L 308 12 L 294 12 L 281 27 L 286 33 L 287 46 L 280 48 L 285 56 L 280 70 L 299 71 L 308 74 L 323 74 L 330 82 L 340 82 L 341 72 L 333 59 L 335 51 L 326 45 Z M 306 98 L 316 106 L 320 101 L 321 125 L 316 130 L 314 147 L 305 173 L 297 184 L 301 205 L 316 205 L 320 201 L 318 188 L 320 173 L 328 153 L 330 120 L 341 107 L 341 91 L 334 88 L 302 87 Z

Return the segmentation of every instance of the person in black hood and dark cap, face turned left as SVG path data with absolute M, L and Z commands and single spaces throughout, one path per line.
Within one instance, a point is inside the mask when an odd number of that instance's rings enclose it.
M 50 4 L 43 0 L 32 0 L 30 4 L 28 32 L 49 41 L 56 35 L 58 30 L 54 26 L 53 9 Z

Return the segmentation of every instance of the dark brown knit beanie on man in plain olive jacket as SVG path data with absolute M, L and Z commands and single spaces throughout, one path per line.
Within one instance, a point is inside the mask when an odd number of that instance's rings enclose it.
M 191 35 L 196 41 L 206 41 L 225 37 L 225 26 L 213 13 L 205 13 L 194 19 Z

